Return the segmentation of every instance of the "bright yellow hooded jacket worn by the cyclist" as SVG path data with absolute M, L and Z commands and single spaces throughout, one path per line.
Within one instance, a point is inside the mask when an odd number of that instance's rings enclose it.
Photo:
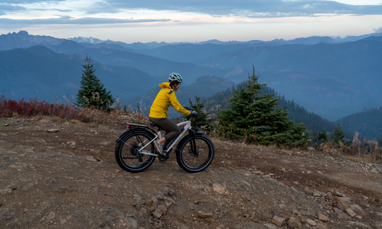
M 190 115 L 191 112 L 185 110 L 176 99 L 175 91 L 170 93 L 170 82 L 161 83 L 159 87 L 162 89 L 156 95 L 153 105 L 151 105 L 149 117 L 158 119 L 167 117 L 168 107 L 170 106 L 173 106 L 180 113 Z

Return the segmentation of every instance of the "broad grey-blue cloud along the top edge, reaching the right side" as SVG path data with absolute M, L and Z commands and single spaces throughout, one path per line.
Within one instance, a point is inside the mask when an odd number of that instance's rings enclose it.
M 243 16 L 248 18 L 279 18 L 320 15 L 381 15 L 382 5 L 354 6 L 322 0 L 105 0 L 115 8 L 150 9 L 205 13 L 212 16 Z

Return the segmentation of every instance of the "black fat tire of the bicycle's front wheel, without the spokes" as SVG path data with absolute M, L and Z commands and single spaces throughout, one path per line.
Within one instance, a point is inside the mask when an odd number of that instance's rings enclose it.
M 195 140 L 199 139 L 199 140 L 202 140 L 205 143 L 207 143 L 207 146 L 209 148 L 209 155 L 207 156 L 207 159 L 204 161 L 204 163 L 202 163 L 202 165 L 200 165 L 197 168 L 194 168 L 194 167 L 190 167 L 190 166 L 186 165 L 186 163 L 183 160 L 183 154 L 188 153 L 185 151 L 185 146 L 187 146 L 187 143 L 192 141 L 192 139 L 193 139 L 192 136 L 190 134 L 188 134 L 182 140 L 180 140 L 180 142 L 178 143 L 178 145 L 176 146 L 176 149 L 175 149 L 176 160 L 177 160 L 180 168 L 182 168 L 186 172 L 202 172 L 203 170 L 207 169 L 209 167 L 209 165 L 211 165 L 212 160 L 214 160 L 214 155 L 215 155 L 214 143 L 212 143 L 211 139 L 209 139 L 204 134 L 195 136 Z

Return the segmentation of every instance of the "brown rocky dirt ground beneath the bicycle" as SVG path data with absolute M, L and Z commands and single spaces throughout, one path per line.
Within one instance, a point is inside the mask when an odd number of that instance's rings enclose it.
M 204 172 L 170 154 L 131 174 L 124 130 L 0 119 L 0 228 L 382 228 L 381 165 L 212 138 Z

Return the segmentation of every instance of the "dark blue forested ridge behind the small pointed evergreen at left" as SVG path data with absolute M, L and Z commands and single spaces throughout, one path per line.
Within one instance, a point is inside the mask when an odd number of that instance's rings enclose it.
M 0 52 L 0 95 L 21 100 L 54 101 L 57 95 L 76 95 L 85 58 L 79 54 L 57 54 L 47 47 Z M 160 80 L 128 66 L 94 63 L 96 75 L 112 95 L 122 100 L 143 93 Z

